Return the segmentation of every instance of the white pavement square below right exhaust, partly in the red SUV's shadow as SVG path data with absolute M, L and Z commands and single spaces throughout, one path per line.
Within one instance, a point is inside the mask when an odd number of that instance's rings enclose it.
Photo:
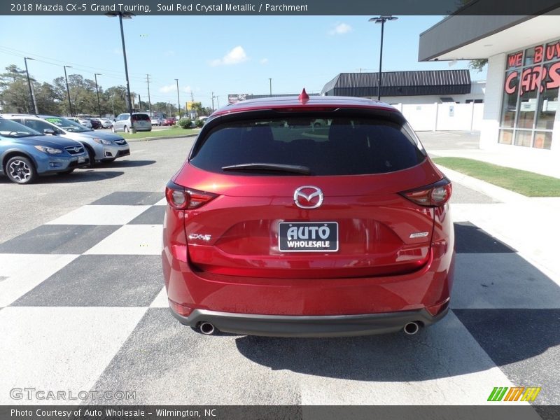
M 349 355 L 354 364 L 366 363 L 365 370 L 377 372 L 377 377 L 300 375 L 301 404 L 485 405 L 494 386 L 512 386 L 454 314 L 423 332 L 422 339 L 408 343 L 416 346 L 416 356 L 401 360 L 407 367 L 391 365 L 395 363 L 391 357 L 356 360 Z

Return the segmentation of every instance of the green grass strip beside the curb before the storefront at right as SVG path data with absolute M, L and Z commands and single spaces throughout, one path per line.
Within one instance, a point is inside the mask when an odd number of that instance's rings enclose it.
M 437 165 L 527 197 L 560 197 L 560 179 L 466 158 L 434 158 Z

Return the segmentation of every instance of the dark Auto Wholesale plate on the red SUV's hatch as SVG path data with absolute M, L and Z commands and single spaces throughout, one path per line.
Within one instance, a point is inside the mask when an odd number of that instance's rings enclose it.
M 338 223 L 280 222 L 278 248 L 282 252 L 338 251 Z

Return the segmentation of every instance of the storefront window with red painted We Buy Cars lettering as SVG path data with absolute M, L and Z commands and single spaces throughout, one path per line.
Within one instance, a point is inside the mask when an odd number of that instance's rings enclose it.
M 560 90 L 560 40 L 507 55 L 498 143 L 549 149 Z

